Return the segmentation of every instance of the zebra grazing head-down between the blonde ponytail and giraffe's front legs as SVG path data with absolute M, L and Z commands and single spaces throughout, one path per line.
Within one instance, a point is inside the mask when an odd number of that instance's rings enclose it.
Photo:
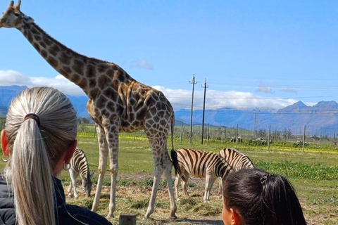
M 73 158 L 70 160 L 70 185 L 68 188 L 68 196 L 73 197 L 71 191 L 74 188 L 74 197 L 78 198 L 76 191 L 76 178 L 80 174 L 82 178 L 82 191 L 86 194 L 87 197 L 90 197 L 90 192 L 92 191 L 92 176 L 89 172 L 89 165 L 84 154 L 84 151 L 80 148 L 76 148 Z

